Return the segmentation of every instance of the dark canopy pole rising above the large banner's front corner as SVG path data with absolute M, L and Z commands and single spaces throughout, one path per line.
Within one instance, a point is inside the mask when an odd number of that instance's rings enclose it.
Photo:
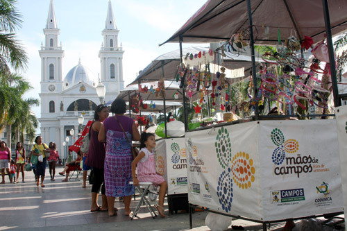
M 257 96 L 257 72 L 255 69 L 255 54 L 254 54 L 254 38 L 253 38 L 253 22 L 252 22 L 252 10 L 251 10 L 251 0 L 247 0 L 248 6 L 248 23 L 249 23 L 249 35 L 251 40 L 251 60 L 252 60 L 252 78 L 253 78 L 253 89 L 254 95 L 253 99 Z M 258 104 L 255 103 L 255 120 L 259 118 L 259 108 Z

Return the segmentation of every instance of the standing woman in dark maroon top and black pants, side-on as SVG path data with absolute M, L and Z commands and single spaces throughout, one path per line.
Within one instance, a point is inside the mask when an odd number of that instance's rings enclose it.
M 105 196 L 105 182 L 103 180 L 103 165 L 105 162 L 105 145 L 99 142 L 98 135 L 103 121 L 108 117 L 109 110 L 101 104 L 94 112 L 94 122 L 90 126 L 90 146 L 85 164 L 93 168 L 94 183 L 92 186 L 92 205 L 90 212 L 108 211 L 107 198 Z M 98 205 L 98 194 L 101 187 L 102 206 Z

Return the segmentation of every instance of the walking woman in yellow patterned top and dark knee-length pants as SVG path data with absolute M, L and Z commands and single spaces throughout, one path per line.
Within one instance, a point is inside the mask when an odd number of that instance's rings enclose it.
M 44 187 L 44 174 L 46 172 L 46 164 L 47 164 L 47 157 L 44 155 L 44 153 L 49 153 L 49 148 L 47 144 L 42 143 L 42 137 L 38 135 L 35 138 L 35 144 L 33 145 L 33 149 L 31 150 L 31 156 L 36 155 L 39 157 L 42 155 L 43 160 L 42 162 L 37 161 L 36 164 L 36 185 L 40 185 L 40 176 L 41 176 L 41 187 Z

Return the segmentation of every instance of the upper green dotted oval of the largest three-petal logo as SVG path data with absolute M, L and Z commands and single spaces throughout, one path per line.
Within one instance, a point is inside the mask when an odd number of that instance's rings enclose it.
M 229 132 L 221 127 L 218 130 L 217 141 L 214 142 L 219 164 L 226 169 L 231 161 L 231 142 Z

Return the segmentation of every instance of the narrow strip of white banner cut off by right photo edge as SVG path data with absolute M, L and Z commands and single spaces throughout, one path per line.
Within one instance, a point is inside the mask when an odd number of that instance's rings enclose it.
M 344 213 L 347 217 L 347 106 L 335 108 L 337 137 L 339 138 L 339 154 L 342 178 L 342 191 L 344 192 Z

